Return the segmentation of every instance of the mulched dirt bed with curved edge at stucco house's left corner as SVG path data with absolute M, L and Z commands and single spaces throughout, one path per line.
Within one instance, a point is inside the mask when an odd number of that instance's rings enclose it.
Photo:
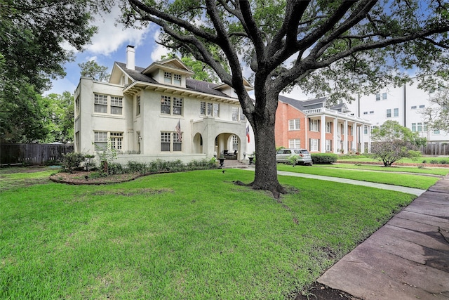
M 75 185 L 98 185 L 107 183 L 121 183 L 132 181 L 140 177 L 140 174 L 116 174 L 105 177 L 95 176 L 94 172 L 74 171 L 74 173 L 58 173 L 50 176 L 50 180 L 58 183 L 67 183 Z

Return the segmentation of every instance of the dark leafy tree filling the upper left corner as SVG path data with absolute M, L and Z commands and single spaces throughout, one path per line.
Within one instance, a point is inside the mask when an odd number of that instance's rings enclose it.
M 108 11 L 105 3 L 0 0 L 0 141 L 46 137 L 38 95 L 65 76 L 63 65 L 74 58 L 66 45 L 82 51 L 96 31 L 91 13 Z

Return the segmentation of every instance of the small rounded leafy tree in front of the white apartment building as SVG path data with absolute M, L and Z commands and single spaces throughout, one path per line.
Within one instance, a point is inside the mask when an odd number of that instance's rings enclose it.
M 427 139 L 421 138 L 419 133 L 392 120 L 373 129 L 371 141 L 373 158 L 378 159 L 385 167 L 391 167 L 391 164 L 403 158 L 420 157 L 421 152 L 417 151 L 419 146 L 427 144 Z

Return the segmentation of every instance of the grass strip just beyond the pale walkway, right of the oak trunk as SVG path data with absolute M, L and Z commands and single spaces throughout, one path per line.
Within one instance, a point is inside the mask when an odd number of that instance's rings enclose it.
M 288 164 L 278 164 L 279 171 L 290 171 L 302 174 L 313 174 L 321 176 L 349 178 L 358 181 L 368 181 L 375 183 L 384 183 L 391 185 L 406 186 L 408 188 L 420 188 L 427 190 L 431 185 L 434 185 L 439 178 L 430 176 L 420 176 L 412 174 L 397 174 L 391 172 L 370 172 L 361 170 L 346 170 L 330 167 L 321 167 L 319 165 L 296 166 L 292 167 Z

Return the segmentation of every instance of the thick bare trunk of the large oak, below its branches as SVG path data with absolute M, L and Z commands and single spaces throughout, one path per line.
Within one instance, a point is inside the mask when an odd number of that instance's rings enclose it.
M 286 193 L 278 181 L 276 169 L 276 145 L 274 141 L 274 116 L 255 117 L 255 178 L 253 188 L 269 190 L 274 197 Z

